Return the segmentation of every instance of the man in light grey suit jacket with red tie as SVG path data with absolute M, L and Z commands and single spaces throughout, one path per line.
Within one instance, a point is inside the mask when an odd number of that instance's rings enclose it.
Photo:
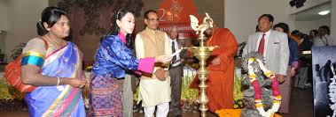
M 285 33 L 271 30 L 274 18 L 270 14 L 263 14 L 258 19 L 260 32 L 248 37 L 243 57 L 257 51 L 263 55 L 266 68 L 278 75 L 279 83 L 285 82 L 285 74 L 289 61 L 288 40 Z

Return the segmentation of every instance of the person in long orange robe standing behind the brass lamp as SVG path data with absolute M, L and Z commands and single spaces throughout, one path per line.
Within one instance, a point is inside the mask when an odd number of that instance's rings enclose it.
M 207 46 L 218 46 L 213 55 L 207 59 L 207 107 L 211 112 L 220 109 L 233 108 L 234 55 L 238 50 L 238 43 L 234 35 L 227 28 L 209 28 L 204 32 L 207 36 Z M 198 87 L 199 78 L 196 77 L 191 88 Z

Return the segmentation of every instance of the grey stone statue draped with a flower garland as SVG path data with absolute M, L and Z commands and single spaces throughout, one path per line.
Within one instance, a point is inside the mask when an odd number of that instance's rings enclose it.
M 248 75 L 242 81 L 246 90 L 241 117 L 273 117 L 281 103 L 277 76 L 264 66 L 263 57 L 257 52 L 246 55 L 243 67 Z

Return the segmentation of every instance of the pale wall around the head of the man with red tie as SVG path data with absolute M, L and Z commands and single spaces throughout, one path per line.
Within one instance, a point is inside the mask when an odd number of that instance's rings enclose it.
M 292 29 L 294 18 L 288 15 L 288 7 L 287 0 L 225 0 L 224 26 L 234 33 L 238 42 L 246 41 L 248 35 L 255 32 L 262 14 L 272 14 L 275 24 L 285 22 Z

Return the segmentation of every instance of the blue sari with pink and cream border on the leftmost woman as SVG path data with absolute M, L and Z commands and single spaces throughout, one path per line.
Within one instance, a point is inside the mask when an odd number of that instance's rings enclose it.
M 34 62 L 34 55 L 26 54 L 23 58 Z M 47 55 L 42 66 L 42 74 L 50 77 L 82 78 L 82 58 L 79 49 L 71 42 Z M 41 58 L 40 58 L 41 59 Z M 25 59 L 22 59 L 25 61 Z M 41 60 L 36 62 L 40 62 Z M 22 62 L 21 62 L 22 63 Z M 55 83 L 56 84 L 56 83 Z M 82 99 L 82 89 L 74 88 L 69 84 L 59 86 L 38 86 L 35 91 L 29 92 L 25 98 L 29 115 L 41 116 L 71 116 L 85 117 L 85 108 Z

